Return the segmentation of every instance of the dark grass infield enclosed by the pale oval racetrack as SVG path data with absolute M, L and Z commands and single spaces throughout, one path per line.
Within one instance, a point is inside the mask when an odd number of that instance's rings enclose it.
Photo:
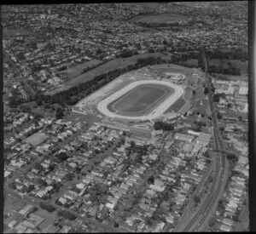
M 124 116 L 140 116 L 171 95 L 174 89 L 160 84 L 144 84 L 131 89 L 108 105 L 108 109 Z

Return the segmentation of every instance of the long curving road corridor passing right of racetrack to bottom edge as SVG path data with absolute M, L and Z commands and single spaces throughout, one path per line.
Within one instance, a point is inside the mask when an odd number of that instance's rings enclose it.
M 215 149 L 218 152 L 218 164 L 216 167 L 216 173 L 212 181 L 212 188 L 209 192 L 209 196 L 205 200 L 203 204 L 201 204 L 201 208 L 197 214 L 195 214 L 194 218 L 190 220 L 189 224 L 184 226 L 183 231 L 198 231 L 198 229 L 202 228 L 203 225 L 207 224 L 207 220 L 210 218 L 212 214 L 213 208 L 216 208 L 218 204 L 218 199 L 222 196 L 224 191 L 225 180 L 227 180 L 227 167 L 228 163 L 226 162 L 226 158 L 224 157 L 223 153 L 221 152 L 224 147 L 222 141 L 219 138 L 218 134 L 218 124 L 217 124 L 217 117 L 216 111 L 214 108 L 213 100 L 212 100 L 212 87 L 210 77 L 207 74 L 207 58 L 203 51 L 203 59 L 205 63 L 205 73 L 207 78 L 207 87 L 209 90 L 208 97 L 210 108 L 212 112 L 212 127 L 213 127 L 213 136 L 215 142 Z

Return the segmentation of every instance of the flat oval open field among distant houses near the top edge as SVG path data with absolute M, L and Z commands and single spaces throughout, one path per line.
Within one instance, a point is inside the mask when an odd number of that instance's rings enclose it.
M 131 22 L 140 22 L 140 23 L 177 23 L 180 21 L 188 20 L 187 17 L 180 14 L 148 14 L 148 15 L 140 15 L 131 20 Z

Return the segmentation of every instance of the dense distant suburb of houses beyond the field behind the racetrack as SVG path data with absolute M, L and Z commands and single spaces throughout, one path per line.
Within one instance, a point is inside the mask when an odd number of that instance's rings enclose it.
M 76 19 L 70 14 L 74 9 L 77 12 Z M 13 23 L 16 28 L 28 26 L 38 33 L 30 37 L 19 34 L 17 37 L 4 37 L 4 49 L 15 61 L 22 76 L 44 91 L 64 82 L 61 77 L 56 76 L 56 71 L 77 66 L 88 60 L 113 60 L 122 54 L 124 49 L 132 53 L 143 54 L 150 49 L 183 51 L 197 49 L 202 44 L 207 47 L 220 45 L 224 47 L 247 41 L 247 33 L 244 31 L 246 19 L 237 21 L 231 18 L 227 23 L 226 14 L 222 14 L 221 17 L 218 14 L 218 23 L 215 24 L 214 29 L 212 28 L 212 21 L 214 21 L 212 15 L 215 10 L 218 13 L 219 9 L 211 9 L 211 16 L 209 16 L 206 14 L 206 9 L 178 8 L 178 12 L 189 15 L 190 20 L 211 21 L 211 23 L 193 26 L 183 24 L 182 30 L 180 26 L 177 26 L 179 30 L 173 31 L 169 28 L 154 31 L 131 21 L 127 22 L 128 18 L 139 13 L 138 9 L 128 5 L 125 8 L 122 5 L 114 7 L 110 5 L 70 5 L 54 8 L 42 6 L 41 11 L 32 8 L 30 14 L 23 14 L 27 9 L 13 6 L 8 10 L 3 9 L 5 12 L 3 26 L 8 27 Z M 194 11 L 200 11 L 200 13 L 193 14 Z M 236 11 L 236 8 L 232 11 Z M 84 30 L 88 32 L 86 36 L 84 36 Z M 38 35 L 42 34 L 46 37 L 38 38 Z M 36 37 L 38 42 L 36 49 L 33 46 L 32 37 Z M 163 43 L 164 41 L 166 43 Z M 20 53 L 24 54 L 25 60 L 20 61 L 18 58 Z M 39 67 L 39 71 L 48 72 L 47 81 L 44 75 L 38 71 L 32 71 L 35 66 Z M 14 72 L 10 67 L 5 69 L 5 73 L 9 80 L 13 79 Z M 26 99 L 26 91 L 21 88 L 20 93 Z

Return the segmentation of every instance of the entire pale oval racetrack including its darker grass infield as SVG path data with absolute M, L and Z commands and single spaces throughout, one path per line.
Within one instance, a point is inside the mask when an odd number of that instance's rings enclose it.
M 97 104 L 97 109 L 113 118 L 154 119 L 183 95 L 183 88 L 173 83 L 142 80 L 128 84 Z

